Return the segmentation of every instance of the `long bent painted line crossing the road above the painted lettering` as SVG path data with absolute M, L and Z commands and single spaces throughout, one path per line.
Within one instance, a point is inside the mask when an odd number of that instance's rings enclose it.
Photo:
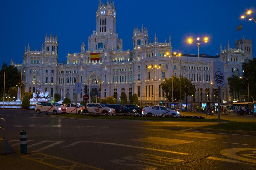
M 116 146 L 130 147 L 130 148 L 146 149 L 146 150 L 151 150 L 151 151 L 160 151 L 160 152 L 177 153 L 177 154 L 181 154 L 181 155 L 188 155 L 188 153 L 182 153 L 182 152 L 166 151 L 166 150 L 161 150 L 161 149 L 153 149 L 153 148 L 146 148 L 146 147 L 133 146 L 133 145 L 124 145 L 124 144 L 119 144 L 119 143 L 93 142 L 93 141 L 74 142 L 74 143 L 71 143 L 71 144 L 69 144 L 67 146 L 64 146 L 62 148 L 71 147 L 71 146 L 74 146 L 78 143 L 100 143 L 100 144 L 116 145 Z

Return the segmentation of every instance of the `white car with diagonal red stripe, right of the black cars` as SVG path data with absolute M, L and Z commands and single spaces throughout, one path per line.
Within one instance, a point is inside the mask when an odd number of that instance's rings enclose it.
M 180 112 L 170 110 L 165 106 L 146 107 L 146 108 L 143 108 L 141 114 L 159 114 L 159 115 L 171 114 L 171 115 L 180 116 Z

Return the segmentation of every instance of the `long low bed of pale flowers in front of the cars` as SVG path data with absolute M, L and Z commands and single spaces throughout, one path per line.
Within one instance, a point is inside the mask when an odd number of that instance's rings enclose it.
M 84 114 L 83 114 L 84 115 Z M 185 118 L 185 119 L 204 119 L 203 116 L 177 116 L 177 115 L 158 115 L 158 114 L 133 114 L 133 113 L 87 113 L 86 116 L 134 116 L 134 117 L 157 117 L 157 118 Z

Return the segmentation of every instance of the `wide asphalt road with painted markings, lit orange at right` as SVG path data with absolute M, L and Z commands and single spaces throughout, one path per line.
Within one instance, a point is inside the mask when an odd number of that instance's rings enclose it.
M 3 109 L 0 118 L 15 149 L 0 155 L 6 170 L 256 168 L 256 136 L 190 130 L 216 122 L 80 120 Z M 22 130 L 27 131 L 26 154 L 20 153 Z

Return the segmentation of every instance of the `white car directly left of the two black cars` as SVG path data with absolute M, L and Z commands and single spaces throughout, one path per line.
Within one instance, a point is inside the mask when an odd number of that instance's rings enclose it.
M 86 105 L 86 113 L 115 113 L 115 109 L 105 106 L 101 103 L 88 103 Z M 85 113 L 85 108 L 82 109 L 82 113 Z

